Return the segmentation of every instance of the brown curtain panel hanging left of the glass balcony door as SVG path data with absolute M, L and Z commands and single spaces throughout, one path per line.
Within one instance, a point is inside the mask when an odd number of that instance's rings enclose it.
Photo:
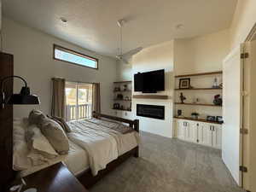
M 65 79 L 52 79 L 51 115 L 66 119 Z

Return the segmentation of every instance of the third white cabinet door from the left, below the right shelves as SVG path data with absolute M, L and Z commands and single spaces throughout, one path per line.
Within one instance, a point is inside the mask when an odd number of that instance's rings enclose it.
M 198 127 L 198 140 L 200 144 L 212 147 L 212 127 L 206 123 L 200 123 Z

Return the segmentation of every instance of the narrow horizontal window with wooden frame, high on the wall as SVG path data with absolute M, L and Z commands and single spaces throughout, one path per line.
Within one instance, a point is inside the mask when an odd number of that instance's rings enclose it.
M 98 68 L 98 59 L 88 55 L 80 54 L 74 50 L 63 48 L 54 44 L 54 59 L 59 61 L 66 61 L 75 65 Z

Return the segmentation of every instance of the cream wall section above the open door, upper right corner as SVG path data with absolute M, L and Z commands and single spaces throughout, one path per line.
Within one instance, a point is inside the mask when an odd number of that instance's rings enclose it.
M 230 27 L 231 49 L 243 43 L 256 23 L 256 1 L 238 0 Z

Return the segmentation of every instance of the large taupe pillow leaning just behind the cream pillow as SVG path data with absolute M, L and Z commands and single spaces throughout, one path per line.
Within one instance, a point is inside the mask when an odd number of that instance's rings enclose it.
M 68 138 L 61 125 L 44 115 L 40 116 L 38 125 L 55 151 L 58 154 L 67 154 L 69 150 Z

